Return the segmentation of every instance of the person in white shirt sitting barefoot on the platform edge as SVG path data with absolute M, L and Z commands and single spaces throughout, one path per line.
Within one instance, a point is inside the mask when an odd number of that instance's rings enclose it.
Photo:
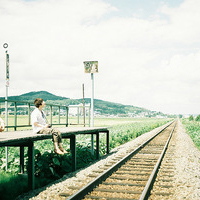
M 51 128 L 51 125 L 47 123 L 46 115 L 42 110 L 46 105 L 44 100 L 36 98 L 34 104 L 36 108 L 31 113 L 33 132 L 37 134 L 52 134 L 55 153 L 60 155 L 67 153 L 62 147 L 62 136 L 60 131 L 55 128 Z

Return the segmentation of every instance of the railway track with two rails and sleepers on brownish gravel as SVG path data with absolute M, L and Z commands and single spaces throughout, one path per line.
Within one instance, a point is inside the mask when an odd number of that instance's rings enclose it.
M 93 171 L 94 180 L 83 188 L 71 187 L 73 195 L 60 196 L 68 200 L 169 199 L 174 166 L 173 145 L 168 145 L 175 127 L 176 122 L 168 124 L 135 150 Z

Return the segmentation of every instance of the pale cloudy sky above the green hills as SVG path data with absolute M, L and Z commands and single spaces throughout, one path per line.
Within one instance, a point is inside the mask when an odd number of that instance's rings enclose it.
M 94 97 L 200 113 L 199 0 L 0 0 L 0 96 L 92 93 L 84 61 L 98 61 Z M 3 44 L 8 43 L 4 49 Z

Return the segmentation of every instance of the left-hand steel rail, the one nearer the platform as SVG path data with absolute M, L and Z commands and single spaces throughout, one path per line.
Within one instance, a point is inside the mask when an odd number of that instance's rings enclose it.
M 78 190 L 76 193 L 71 195 L 67 198 L 67 200 L 77 200 L 82 199 L 87 193 L 91 192 L 97 185 L 102 183 L 106 178 L 108 178 L 113 172 L 117 171 L 118 168 L 120 168 L 126 161 L 128 161 L 133 155 L 137 154 L 144 146 L 146 146 L 151 140 L 153 140 L 158 134 L 160 134 L 163 130 L 165 130 L 167 127 L 169 127 L 174 121 L 168 123 L 164 128 L 162 128 L 158 133 L 153 135 L 150 139 L 142 143 L 140 146 L 138 146 L 135 150 L 130 152 L 127 156 L 119 160 L 116 164 L 108 168 L 104 173 L 96 177 L 93 181 L 88 183 L 86 186 Z

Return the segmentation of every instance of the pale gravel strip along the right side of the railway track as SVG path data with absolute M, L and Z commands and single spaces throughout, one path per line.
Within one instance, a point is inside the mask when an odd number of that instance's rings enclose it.
M 183 125 L 178 123 L 176 140 L 175 199 L 200 199 L 200 151 L 195 147 Z

